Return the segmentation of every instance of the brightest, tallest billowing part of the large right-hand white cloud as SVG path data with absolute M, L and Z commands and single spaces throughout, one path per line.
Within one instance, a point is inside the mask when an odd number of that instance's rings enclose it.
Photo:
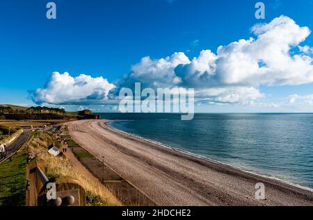
M 252 27 L 257 40 L 239 40 L 219 46 L 217 54 L 202 51 L 188 65 L 177 67 L 184 85 L 300 85 L 312 83 L 312 58 L 291 55 L 290 51 L 310 35 L 289 17 L 278 17 L 269 24 Z

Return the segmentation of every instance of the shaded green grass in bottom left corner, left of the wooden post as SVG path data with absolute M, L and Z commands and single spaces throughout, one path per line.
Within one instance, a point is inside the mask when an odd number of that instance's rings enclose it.
M 0 206 L 25 205 L 26 149 L 0 164 Z

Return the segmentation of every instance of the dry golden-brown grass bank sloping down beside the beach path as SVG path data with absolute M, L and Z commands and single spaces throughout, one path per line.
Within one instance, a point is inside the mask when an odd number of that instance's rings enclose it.
M 121 205 L 120 201 L 109 190 L 99 187 L 98 183 L 86 178 L 86 176 L 74 169 L 73 164 L 69 160 L 62 157 L 54 157 L 47 153 L 46 146 L 52 143 L 58 146 L 58 143 L 51 135 L 35 132 L 33 133 L 33 142 L 29 146 L 31 153 L 45 160 L 45 173 L 49 179 L 62 180 L 71 177 L 79 180 L 81 186 L 86 189 L 88 205 Z

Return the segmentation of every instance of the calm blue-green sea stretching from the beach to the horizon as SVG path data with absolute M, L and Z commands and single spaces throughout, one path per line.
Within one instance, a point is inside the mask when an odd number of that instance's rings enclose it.
M 313 115 L 102 114 L 113 128 L 313 189 Z

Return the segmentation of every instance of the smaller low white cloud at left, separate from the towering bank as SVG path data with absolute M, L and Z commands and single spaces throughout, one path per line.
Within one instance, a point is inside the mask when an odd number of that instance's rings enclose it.
M 72 77 L 65 72 L 54 72 L 47 85 L 31 92 L 31 99 L 37 104 L 84 105 L 103 103 L 115 85 L 105 78 L 93 78 L 81 74 Z

